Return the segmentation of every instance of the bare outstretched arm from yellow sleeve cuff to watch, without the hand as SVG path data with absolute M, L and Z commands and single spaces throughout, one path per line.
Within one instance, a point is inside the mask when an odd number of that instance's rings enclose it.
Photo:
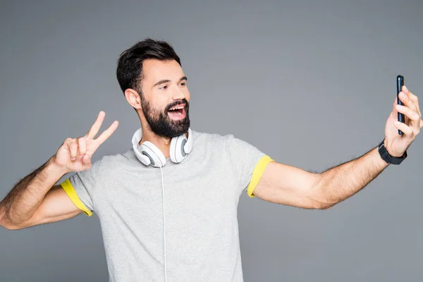
M 327 209 L 351 197 L 388 164 L 377 147 L 362 157 L 330 168 L 323 173 L 310 173 L 300 168 L 271 162 L 266 166 L 254 194 L 269 202 L 305 209 Z

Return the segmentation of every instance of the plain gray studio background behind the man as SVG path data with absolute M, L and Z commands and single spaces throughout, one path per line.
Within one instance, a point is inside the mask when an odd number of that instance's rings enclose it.
M 116 59 L 145 37 L 180 55 L 192 128 L 307 170 L 358 157 L 384 137 L 396 75 L 423 95 L 422 12 L 422 1 L 2 1 L 0 196 L 101 110 L 102 129 L 120 125 L 94 161 L 130 147 L 139 123 Z M 421 281 L 422 142 L 325 211 L 243 195 L 245 281 Z M 1 228 L 0 280 L 106 281 L 102 244 L 97 216 Z

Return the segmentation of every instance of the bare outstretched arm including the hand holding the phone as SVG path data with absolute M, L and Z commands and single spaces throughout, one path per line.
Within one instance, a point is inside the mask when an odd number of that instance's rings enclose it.
M 400 157 L 411 145 L 423 127 L 422 115 L 417 97 L 403 87 L 399 95 L 404 106 L 393 103 L 385 126 L 384 146 L 393 157 Z M 405 114 L 405 123 L 398 123 L 398 112 Z M 398 129 L 403 135 L 398 135 Z M 362 157 L 330 168 L 323 173 L 309 173 L 300 168 L 269 163 L 254 190 L 257 197 L 279 204 L 288 204 L 306 209 L 327 209 L 351 197 L 376 176 L 388 164 L 378 148 Z

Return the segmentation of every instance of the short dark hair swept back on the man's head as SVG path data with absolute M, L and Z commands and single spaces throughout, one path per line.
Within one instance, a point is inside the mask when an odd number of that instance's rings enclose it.
M 168 42 L 150 38 L 137 42 L 118 59 L 116 77 L 123 92 L 128 88 L 141 92 L 142 62 L 146 59 L 175 60 L 180 65 L 179 56 Z

